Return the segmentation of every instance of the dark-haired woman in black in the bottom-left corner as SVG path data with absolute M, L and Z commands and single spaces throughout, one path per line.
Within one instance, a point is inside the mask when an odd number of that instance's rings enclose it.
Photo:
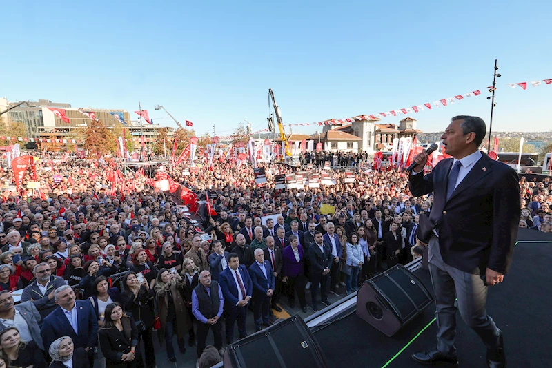
M 21 341 L 16 327 L 6 327 L 0 331 L 0 356 L 8 367 L 46 368 L 44 352 L 33 340 Z

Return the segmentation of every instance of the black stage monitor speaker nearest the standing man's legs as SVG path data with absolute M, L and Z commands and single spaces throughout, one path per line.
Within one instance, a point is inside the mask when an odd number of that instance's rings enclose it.
M 433 302 L 422 281 L 402 264 L 367 280 L 357 294 L 360 318 L 393 336 Z

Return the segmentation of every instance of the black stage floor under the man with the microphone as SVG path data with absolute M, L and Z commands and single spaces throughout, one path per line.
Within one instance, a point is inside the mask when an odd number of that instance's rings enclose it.
M 486 309 L 504 332 L 509 367 L 552 367 L 552 235 L 520 230 L 511 271 L 503 283 L 489 288 Z M 418 269 L 415 274 L 433 292 L 428 271 Z M 430 304 L 389 338 L 353 312 L 315 331 L 315 337 L 328 367 L 422 367 L 411 354 L 435 347 L 434 318 L 435 304 Z M 460 315 L 456 347 L 460 367 L 485 367 L 485 347 Z

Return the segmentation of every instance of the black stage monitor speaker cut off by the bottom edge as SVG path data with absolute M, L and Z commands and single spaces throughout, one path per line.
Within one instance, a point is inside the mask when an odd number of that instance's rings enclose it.
M 299 316 L 228 345 L 223 361 L 225 368 L 328 367 L 320 345 Z

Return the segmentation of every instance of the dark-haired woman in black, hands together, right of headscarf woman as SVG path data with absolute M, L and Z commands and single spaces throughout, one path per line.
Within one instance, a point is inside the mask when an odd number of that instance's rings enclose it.
M 106 368 L 134 368 L 137 366 L 136 349 L 139 335 L 135 320 L 123 312 L 119 303 L 106 307 L 103 326 L 98 330 L 99 345 L 106 357 Z M 146 355 L 153 351 L 146 351 Z

